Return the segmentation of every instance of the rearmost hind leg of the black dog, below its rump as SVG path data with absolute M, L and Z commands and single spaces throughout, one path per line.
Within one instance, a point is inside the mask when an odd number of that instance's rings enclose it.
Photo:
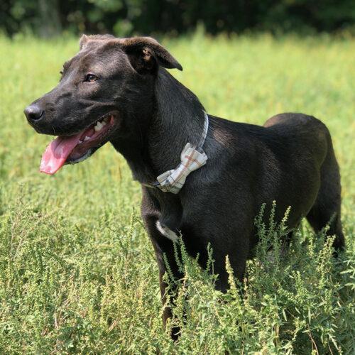
M 334 155 L 332 139 L 327 130 L 328 151 L 320 170 L 320 190 L 307 214 L 307 220 L 315 231 L 320 231 L 329 224 L 329 236 L 335 235 L 334 249 L 344 249 L 345 241 L 341 222 L 341 185 L 337 159 Z

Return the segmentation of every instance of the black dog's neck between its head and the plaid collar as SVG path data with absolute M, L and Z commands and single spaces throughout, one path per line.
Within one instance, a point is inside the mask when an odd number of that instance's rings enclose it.
M 133 178 L 145 184 L 176 168 L 185 144 L 199 143 L 204 126 L 200 101 L 163 68 L 155 80 L 154 99 L 155 104 L 146 117 L 149 124 L 143 139 L 130 143 L 126 149 L 112 142 L 129 163 Z

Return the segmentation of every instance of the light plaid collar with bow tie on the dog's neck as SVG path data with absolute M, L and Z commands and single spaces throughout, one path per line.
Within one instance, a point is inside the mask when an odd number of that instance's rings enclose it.
M 156 187 L 163 192 L 172 192 L 173 194 L 178 194 L 182 186 L 184 186 L 187 175 L 192 173 L 192 171 L 201 168 L 207 161 L 207 155 L 204 153 L 202 146 L 206 140 L 208 131 L 209 119 L 204 112 L 204 126 L 202 137 L 197 146 L 193 146 L 191 143 L 186 143 L 184 149 L 182 149 L 180 155 L 180 164 L 177 168 L 173 170 L 165 171 L 165 173 L 160 174 L 157 181 L 152 184 L 143 184 L 147 187 Z

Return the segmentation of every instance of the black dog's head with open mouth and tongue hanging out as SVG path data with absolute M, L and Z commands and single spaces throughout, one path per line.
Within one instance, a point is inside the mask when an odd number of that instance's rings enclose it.
M 153 107 L 159 65 L 182 70 L 153 38 L 83 35 L 58 85 L 24 111 L 38 133 L 58 136 L 43 154 L 40 171 L 54 174 L 113 137 L 138 139 Z

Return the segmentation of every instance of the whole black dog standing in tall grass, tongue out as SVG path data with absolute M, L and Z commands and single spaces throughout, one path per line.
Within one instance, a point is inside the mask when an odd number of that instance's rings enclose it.
M 124 155 L 142 185 L 141 212 L 163 301 L 164 253 L 181 276 L 173 253 L 178 234 L 191 256 L 200 253 L 202 267 L 211 244 L 217 288 L 226 290 L 226 255 L 242 278 L 258 241 L 253 219 L 273 200 L 278 220 L 292 207 L 290 229 L 302 217 L 315 231 L 332 220 L 329 234 L 336 236 L 334 248 L 342 249 L 340 176 L 327 127 L 305 114 L 279 114 L 264 126 L 207 116 L 163 67 L 182 70 L 153 38 L 84 35 L 58 86 L 25 109 L 38 133 L 58 135 L 43 155 L 45 173 L 84 160 L 108 141 Z M 190 151 L 182 153 L 187 143 Z M 180 168 L 157 181 L 178 167 L 180 155 L 186 160 Z M 172 185 L 164 185 L 169 176 Z M 164 321 L 169 316 L 165 309 Z

